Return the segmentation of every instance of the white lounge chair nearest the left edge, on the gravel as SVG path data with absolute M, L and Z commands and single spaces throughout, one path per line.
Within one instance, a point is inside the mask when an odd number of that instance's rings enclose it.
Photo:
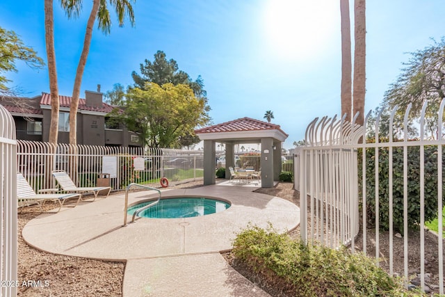
M 40 191 L 54 191 L 54 188 L 40 190 Z M 29 182 L 25 179 L 22 173 L 17 172 L 17 199 L 24 200 L 25 202 L 35 202 L 40 207 L 40 210 L 43 211 L 42 206 L 45 201 L 52 200 L 58 201 L 59 208 L 57 211 L 63 207 L 63 203 L 70 199 L 77 198 L 77 202 L 74 205 L 79 203 L 81 200 L 81 194 L 79 193 L 56 193 L 56 194 L 36 194 Z

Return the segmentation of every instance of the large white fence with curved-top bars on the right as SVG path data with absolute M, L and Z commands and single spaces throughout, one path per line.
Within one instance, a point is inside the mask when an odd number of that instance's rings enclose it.
M 444 294 L 444 106 L 445 100 L 440 104 L 435 129 L 429 125 L 429 131 L 435 133 L 427 135 L 428 104 L 423 104 L 419 121 L 414 123 L 419 128 L 417 138 L 409 137 L 411 105 L 399 117 L 397 109 L 386 113 L 385 122 L 380 111 L 368 127 L 371 113 L 364 127 L 327 117 L 310 123 L 307 145 L 300 147 L 300 177 L 296 182 L 301 208 L 307 209 L 301 213 L 302 239 L 334 248 L 346 244 L 352 251 L 361 248 L 365 253 L 372 246 L 374 256 L 384 258 L 391 275 L 403 274 L 408 280 L 416 271 L 422 289 L 436 286 L 439 294 Z M 437 106 L 431 111 L 437 111 Z M 396 118 L 402 117 L 396 123 Z M 365 141 L 359 143 L 360 138 Z M 433 218 L 438 225 L 437 254 L 427 255 L 426 237 L 431 233 L 425 223 Z M 357 236 L 359 230 L 362 234 Z M 403 237 L 403 252 L 394 250 L 398 232 Z M 415 257 L 409 253 L 410 236 L 419 238 L 414 243 L 419 250 Z M 359 240 L 362 243 L 356 246 Z M 383 243 L 388 245 L 388 254 L 382 254 Z M 429 271 L 426 276 L 427 258 L 429 269 L 435 273 Z M 403 271 L 394 270 L 396 261 L 403 261 Z

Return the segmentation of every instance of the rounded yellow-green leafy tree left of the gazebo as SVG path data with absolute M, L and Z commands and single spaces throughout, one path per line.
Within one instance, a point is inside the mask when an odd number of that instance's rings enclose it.
M 191 137 L 195 127 L 209 121 L 204 99 L 196 97 L 189 86 L 172 83 L 130 88 L 124 111 L 115 110 L 113 116 L 138 131 L 143 145 L 149 147 L 180 147 L 181 139 Z

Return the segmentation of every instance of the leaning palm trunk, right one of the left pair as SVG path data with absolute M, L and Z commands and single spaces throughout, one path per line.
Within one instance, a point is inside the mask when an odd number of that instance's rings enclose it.
M 74 80 L 74 88 L 72 90 L 72 99 L 70 106 L 70 145 L 77 144 L 77 109 L 79 107 L 79 97 L 81 93 L 81 84 L 83 77 L 83 70 L 85 70 L 86 59 L 90 52 L 92 29 L 99 11 L 100 0 L 94 0 L 92 3 L 90 17 L 86 25 L 85 39 L 83 40 L 83 49 L 79 65 L 77 65 L 76 79 Z

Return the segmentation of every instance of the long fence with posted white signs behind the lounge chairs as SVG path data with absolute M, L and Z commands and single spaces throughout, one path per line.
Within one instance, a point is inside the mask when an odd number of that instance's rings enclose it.
M 202 179 L 203 152 L 140 147 L 101 147 L 17 141 L 17 164 L 33 188 L 54 188 L 53 170 L 64 170 L 79 186 L 110 185 L 113 190 L 136 182 L 160 186 Z

